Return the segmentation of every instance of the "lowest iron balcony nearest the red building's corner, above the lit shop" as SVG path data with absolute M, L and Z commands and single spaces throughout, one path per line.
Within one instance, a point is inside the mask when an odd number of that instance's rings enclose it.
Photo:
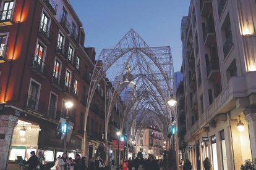
M 47 115 L 47 109 L 48 105 L 47 103 L 37 99 L 33 95 L 28 95 L 27 96 L 27 103 L 25 105 L 25 108 L 27 110 L 32 110 L 40 113 L 40 115 Z

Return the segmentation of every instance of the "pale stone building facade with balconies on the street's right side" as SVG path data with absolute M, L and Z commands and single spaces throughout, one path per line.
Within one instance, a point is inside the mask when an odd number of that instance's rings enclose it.
M 256 158 L 255 9 L 250 0 L 192 0 L 182 18 L 183 152 L 194 169 L 206 157 L 213 169 L 240 169 Z

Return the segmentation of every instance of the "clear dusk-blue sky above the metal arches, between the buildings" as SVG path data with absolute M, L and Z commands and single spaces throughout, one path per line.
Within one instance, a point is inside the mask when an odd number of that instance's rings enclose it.
M 181 70 L 181 19 L 190 0 L 69 0 L 83 23 L 85 47 L 114 48 L 133 28 L 148 46 L 171 46 L 174 71 Z

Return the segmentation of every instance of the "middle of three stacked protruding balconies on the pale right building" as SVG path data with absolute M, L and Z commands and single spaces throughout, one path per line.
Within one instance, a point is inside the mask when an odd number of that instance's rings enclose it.
M 212 46 L 216 41 L 215 39 L 215 25 L 207 24 L 206 28 L 203 29 L 203 41 L 205 46 Z

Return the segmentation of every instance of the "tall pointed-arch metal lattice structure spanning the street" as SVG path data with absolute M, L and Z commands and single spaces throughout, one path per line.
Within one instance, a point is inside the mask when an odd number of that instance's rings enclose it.
M 107 142 L 108 123 L 114 104 L 120 100 L 124 91 L 130 93 L 124 100 L 125 109 L 121 111 L 121 131 L 127 120 L 128 128 L 134 126 L 137 120 L 136 131 L 148 126 L 148 118 L 154 119 L 160 127 L 163 137 L 168 134 L 171 124 L 171 113 L 166 100 L 173 93 L 173 59 L 170 47 L 149 47 L 134 30 L 119 41 L 114 49 L 103 49 L 93 70 L 88 91 L 87 108 L 85 110 L 84 124 L 84 150 L 87 138 L 87 117 L 93 94 L 101 79 L 108 77 L 114 91 L 109 95 L 108 105 L 105 109 L 105 139 Z M 142 116 L 143 115 L 143 116 Z M 129 137 L 129 132 L 127 132 Z

